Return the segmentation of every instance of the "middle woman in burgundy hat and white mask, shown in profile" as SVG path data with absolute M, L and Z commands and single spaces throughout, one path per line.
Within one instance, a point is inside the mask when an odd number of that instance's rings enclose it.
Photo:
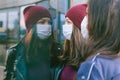
M 58 57 L 53 80 L 74 80 L 82 55 L 80 55 L 81 22 L 86 15 L 86 4 L 78 4 L 66 13 L 66 22 L 62 26 L 65 37 L 63 54 Z

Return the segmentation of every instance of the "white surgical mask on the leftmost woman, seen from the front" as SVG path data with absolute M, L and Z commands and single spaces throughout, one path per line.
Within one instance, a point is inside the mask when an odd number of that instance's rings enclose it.
M 46 24 L 37 24 L 36 33 L 40 39 L 46 39 L 51 35 L 51 25 Z

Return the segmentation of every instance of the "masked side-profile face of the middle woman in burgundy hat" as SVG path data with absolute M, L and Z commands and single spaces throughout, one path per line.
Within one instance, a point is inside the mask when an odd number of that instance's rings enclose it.
M 62 26 L 65 39 L 71 39 L 73 25 L 73 22 L 68 17 L 66 17 L 65 24 Z

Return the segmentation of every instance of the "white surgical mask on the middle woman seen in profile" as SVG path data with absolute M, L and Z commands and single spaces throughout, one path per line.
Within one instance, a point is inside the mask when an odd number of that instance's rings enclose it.
M 72 34 L 72 24 L 63 25 L 63 35 L 66 39 L 70 40 Z

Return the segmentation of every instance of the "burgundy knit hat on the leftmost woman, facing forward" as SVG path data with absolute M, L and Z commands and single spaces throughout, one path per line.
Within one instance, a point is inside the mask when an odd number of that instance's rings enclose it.
M 51 18 L 48 9 L 42 6 L 28 6 L 24 9 L 23 14 L 27 32 L 29 32 L 33 24 L 35 24 L 39 19 L 43 17 Z

